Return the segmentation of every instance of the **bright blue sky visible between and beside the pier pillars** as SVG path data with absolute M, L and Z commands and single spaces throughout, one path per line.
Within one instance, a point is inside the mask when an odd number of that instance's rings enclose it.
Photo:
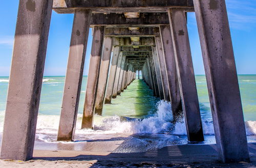
M 234 57 L 238 74 L 256 74 L 255 0 L 226 0 Z M 0 76 L 9 76 L 18 1 L 2 1 L 0 6 Z M 73 14 L 52 12 L 45 76 L 65 75 Z M 205 74 L 195 13 L 188 13 L 188 34 L 195 74 Z M 84 75 L 88 74 L 92 30 L 90 30 Z

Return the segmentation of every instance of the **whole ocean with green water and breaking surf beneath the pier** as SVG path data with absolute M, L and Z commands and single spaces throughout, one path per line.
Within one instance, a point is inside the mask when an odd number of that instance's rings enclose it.
M 247 139 L 256 142 L 256 75 L 239 75 Z M 56 142 L 65 76 L 44 76 L 36 129 L 36 141 Z M 8 90 L 8 77 L 0 77 L 0 137 Z M 215 144 L 205 75 L 196 75 L 205 141 Z M 142 80 L 134 80 L 112 104 L 103 107 L 102 116 L 95 116 L 94 129 L 80 129 L 87 76 L 83 76 L 75 141 L 120 139 L 123 143 L 114 152 L 143 152 L 169 145 L 191 144 L 187 141 L 184 120 L 172 123 L 171 104 L 153 96 L 153 91 Z M 17 111 L 18 113 L 18 111 Z M 193 143 L 195 144 L 195 143 Z M 37 146 L 35 145 L 35 148 Z M 47 148 L 47 147 L 46 147 Z

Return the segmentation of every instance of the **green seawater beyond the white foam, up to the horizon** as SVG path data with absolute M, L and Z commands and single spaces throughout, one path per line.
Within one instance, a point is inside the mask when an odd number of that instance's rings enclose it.
M 256 75 L 239 75 L 239 86 L 245 121 L 256 121 Z M 45 76 L 42 85 L 39 114 L 59 115 L 65 76 Z M 196 84 L 203 118 L 210 119 L 210 106 L 205 75 L 196 75 Z M 87 85 L 87 76 L 83 76 L 78 113 L 82 114 Z M 153 97 L 144 82 L 135 80 L 125 94 L 112 100 L 112 105 L 104 105 L 104 116 L 127 116 L 143 118 L 156 111 L 159 101 Z M 0 111 L 5 110 L 8 89 L 8 77 L 0 77 Z

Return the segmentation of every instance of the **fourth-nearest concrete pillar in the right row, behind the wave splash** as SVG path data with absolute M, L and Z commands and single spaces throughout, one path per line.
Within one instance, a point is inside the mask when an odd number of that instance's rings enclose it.
M 164 99 L 167 101 L 170 101 L 169 82 L 168 82 L 168 77 L 167 77 L 167 72 L 165 67 L 165 59 L 164 59 L 164 52 L 163 52 L 161 37 L 155 36 L 155 40 L 156 40 L 156 46 L 157 46 L 161 77 L 163 82 Z

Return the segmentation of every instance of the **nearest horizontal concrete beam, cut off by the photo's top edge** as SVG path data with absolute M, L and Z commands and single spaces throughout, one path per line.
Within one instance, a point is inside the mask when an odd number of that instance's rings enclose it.
M 94 13 L 108 12 L 166 12 L 168 8 L 193 9 L 193 0 L 54 0 L 57 13 L 74 13 L 76 9 L 92 9 Z

